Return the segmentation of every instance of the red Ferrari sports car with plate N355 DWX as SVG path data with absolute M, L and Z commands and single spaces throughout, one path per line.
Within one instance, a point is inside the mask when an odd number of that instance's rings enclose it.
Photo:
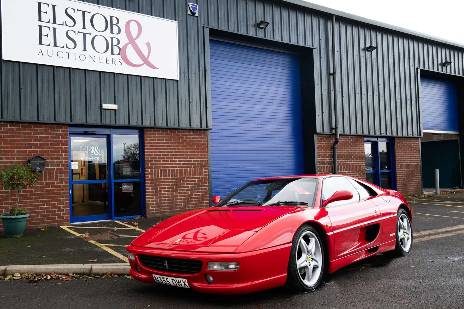
M 412 247 L 403 195 L 340 174 L 253 180 L 213 203 L 136 238 L 132 277 L 204 293 L 310 291 L 324 274 Z

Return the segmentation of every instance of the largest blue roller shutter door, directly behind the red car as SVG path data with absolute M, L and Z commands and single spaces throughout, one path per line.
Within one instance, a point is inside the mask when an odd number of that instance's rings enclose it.
M 303 174 L 298 55 L 211 40 L 213 196 Z

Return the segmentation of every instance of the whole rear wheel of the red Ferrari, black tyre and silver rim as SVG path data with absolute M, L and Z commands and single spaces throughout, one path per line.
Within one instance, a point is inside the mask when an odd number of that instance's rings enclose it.
M 384 252 L 390 257 L 405 257 L 412 249 L 412 225 L 407 212 L 400 208 L 396 217 L 395 249 Z

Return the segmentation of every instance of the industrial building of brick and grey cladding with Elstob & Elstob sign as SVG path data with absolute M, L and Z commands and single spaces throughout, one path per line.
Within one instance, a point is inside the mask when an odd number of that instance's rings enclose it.
M 334 146 L 384 188 L 435 168 L 462 187 L 463 45 L 301 0 L 192 1 L 1 1 L 0 168 L 46 159 L 28 227 L 205 207 L 333 173 Z

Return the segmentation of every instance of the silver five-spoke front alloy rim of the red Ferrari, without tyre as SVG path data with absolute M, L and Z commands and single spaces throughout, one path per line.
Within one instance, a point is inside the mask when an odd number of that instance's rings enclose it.
M 296 267 L 303 283 L 309 287 L 316 285 L 322 271 L 322 249 L 316 235 L 306 231 L 298 240 Z

